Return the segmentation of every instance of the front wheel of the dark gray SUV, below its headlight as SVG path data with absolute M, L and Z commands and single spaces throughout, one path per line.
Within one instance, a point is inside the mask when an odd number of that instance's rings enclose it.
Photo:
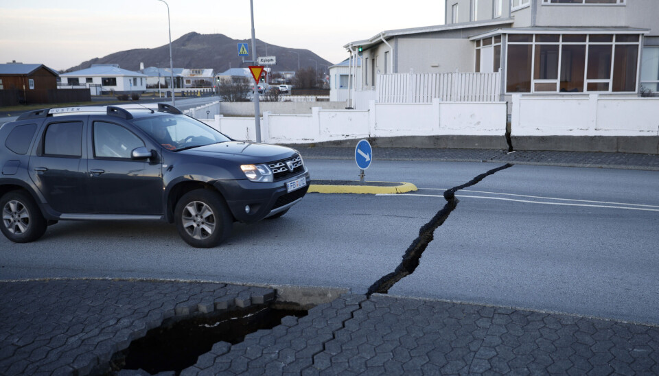
M 176 203 L 174 220 L 178 235 L 195 248 L 212 248 L 229 237 L 233 218 L 220 193 L 195 189 Z

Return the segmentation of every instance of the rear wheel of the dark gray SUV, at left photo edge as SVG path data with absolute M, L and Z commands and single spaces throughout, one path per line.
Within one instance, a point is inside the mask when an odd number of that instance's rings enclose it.
M 0 198 L 0 230 L 14 243 L 29 243 L 43 236 L 47 222 L 41 209 L 25 191 L 11 191 Z

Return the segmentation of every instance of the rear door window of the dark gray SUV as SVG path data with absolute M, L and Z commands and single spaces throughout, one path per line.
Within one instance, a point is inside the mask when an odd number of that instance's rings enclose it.
M 82 156 L 82 122 L 49 124 L 43 142 L 43 154 L 49 156 Z

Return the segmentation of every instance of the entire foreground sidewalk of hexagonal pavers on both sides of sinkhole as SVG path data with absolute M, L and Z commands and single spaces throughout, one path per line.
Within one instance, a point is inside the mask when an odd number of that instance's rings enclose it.
M 268 303 L 274 293 L 176 281 L 0 282 L 0 375 L 97 373 L 166 318 Z M 658 375 L 659 327 L 344 294 L 238 344 L 218 342 L 181 373 L 231 374 Z

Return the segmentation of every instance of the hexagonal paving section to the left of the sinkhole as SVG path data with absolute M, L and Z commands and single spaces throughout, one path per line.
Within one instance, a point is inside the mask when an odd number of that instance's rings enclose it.
M 274 290 L 224 283 L 0 282 L 0 375 L 88 375 L 174 316 L 267 303 Z

